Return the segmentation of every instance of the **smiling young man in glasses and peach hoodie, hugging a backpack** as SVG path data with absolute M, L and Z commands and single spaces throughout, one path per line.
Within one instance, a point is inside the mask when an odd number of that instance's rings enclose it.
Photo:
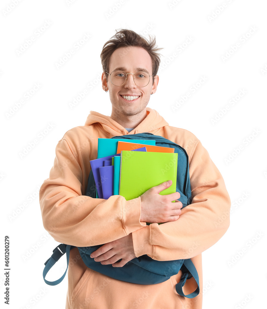
M 201 252 L 227 231 L 229 218 L 215 223 L 229 213 L 231 203 L 222 175 L 201 142 L 146 108 L 159 83 L 158 50 L 155 40 L 149 42 L 125 29 L 104 44 L 102 88 L 109 92 L 111 116 L 90 112 L 84 126 L 70 129 L 58 142 L 54 166 L 40 188 L 42 218 L 45 229 L 58 242 L 77 247 L 104 244 L 91 255 L 104 265 L 122 267 L 144 254 L 163 261 L 191 258 L 202 291 Z M 181 210 L 179 193 L 158 194 L 171 182 L 129 201 L 119 195 L 107 200 L 85 196 L 89 160 L 97 158 L 98 138 L 128 132 L 160 135 L 187 151 L 192 204 Z M 74 248 L 70 252 L 66 308 L 201 308 L 202 292 L 192 299 L 176 293 L 180 277 L 181 271 L 155 285 L 119 281 L 87 268 Z M 195 290 L 192 280 L 187 280 L 185 294 Z

